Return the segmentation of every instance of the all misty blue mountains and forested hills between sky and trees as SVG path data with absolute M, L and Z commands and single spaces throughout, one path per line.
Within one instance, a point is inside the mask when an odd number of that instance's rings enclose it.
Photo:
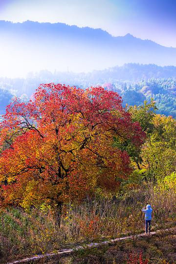
M 176 48 L 64 23 L 0 21 L 0 62 L 0 114 L 14 96 L 27 101 L 54 82 L 101 85 L 124 106 L 153 97 L 159 113 L 176 116 Z

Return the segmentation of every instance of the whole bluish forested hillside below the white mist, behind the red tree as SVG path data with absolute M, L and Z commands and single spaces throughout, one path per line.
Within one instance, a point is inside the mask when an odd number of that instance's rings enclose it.
M 29 73 L 25 79 L 0 78 L 0 114 L 16 95 L 27 101 L 41 83 L 63 83 L 85 88 L 101 85 L 122 96 L 123 105 L 140 105 L 154 98 L 157 113 L 176 117 L 176 67 L 127 64 L 90 73 Z M 3 100 L 3 102 L 2 102 Z

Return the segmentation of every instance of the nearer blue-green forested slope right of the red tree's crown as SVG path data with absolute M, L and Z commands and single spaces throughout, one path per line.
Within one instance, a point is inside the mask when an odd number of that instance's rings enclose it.
M 148 79 L 139 82 L 114 82 L 115 90 L 121 94 L 123 105 L 141 105 L 144 100 L 154 98 L 156 112 L 176 117 L 176 79 Z M 120 90 L 119 90 L 120 89 Z

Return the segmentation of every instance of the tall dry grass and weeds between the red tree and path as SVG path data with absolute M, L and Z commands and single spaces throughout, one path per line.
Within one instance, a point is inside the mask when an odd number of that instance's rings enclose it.
M 132 189 L 117 198 L 87 197 L 81 204 L 63 208 L 60 228 L 49 208 L 0 211 L 0 263 L 31 254 L 45 253 L 78 243 L 118 238 L 144 230 L 141 208 L 151 203 L 153 226 L 176 224 L 176 193 L 153 186 Z M 135 241 L 134 241 L 135 242 Z

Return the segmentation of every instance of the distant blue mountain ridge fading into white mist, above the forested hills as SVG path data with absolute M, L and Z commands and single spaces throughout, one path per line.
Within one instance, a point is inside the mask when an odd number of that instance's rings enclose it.
M 176 66 L 176 48 L 64 23 L 0 21 L 0 62 L 0 76 L 13 77 L 42 69 L 83 72 L 125 63 Z

